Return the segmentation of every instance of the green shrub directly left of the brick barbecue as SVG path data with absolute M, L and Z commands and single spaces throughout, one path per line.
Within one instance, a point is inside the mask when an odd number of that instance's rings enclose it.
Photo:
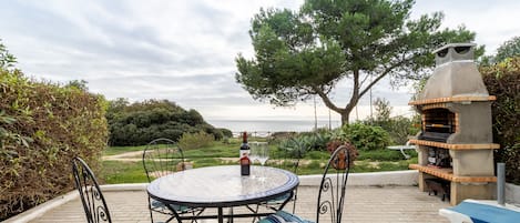
M 376 107 L 375 118 L 368 119 L 364 123 L 380 126 L 387 131 L 390 135 L 391 144 L 405 144 L 408 141 L 408 136 L 416 135 L 420 131 L 418 126 L 414 125 L 414 123 L 420 123 L 419 120 L 401 115 L 390 118 L 391 107 L 389 101 L 376 99 L 374 104 Z

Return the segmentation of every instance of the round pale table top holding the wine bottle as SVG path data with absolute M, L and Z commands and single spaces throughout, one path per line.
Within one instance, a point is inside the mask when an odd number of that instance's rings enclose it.
M 267 201 L 298 184 L 297 175 L 281 169 L 252 165 L 251 175 L 242 176 L 239 165 L 218 165 L 162 176 L 146 190 L 164 203 L 223 207 Z

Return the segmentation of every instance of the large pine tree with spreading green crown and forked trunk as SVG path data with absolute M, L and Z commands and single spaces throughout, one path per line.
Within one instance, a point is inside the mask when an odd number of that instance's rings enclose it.
M 441 12 L 409 19 L 412 4 L 306 0 L 296 12 L 261 9 L 249 30 L 255 55 L 237 55 L 235 79 L 254 99 L 275 105 L 318 95 L 346 124 L 359 99 L 383 78 L 396 85 L 418 80 L 434 65 L 434 49 L 475 39 L 465 27 L 441 30 Z M 477 54 L 482 53 L 483 47 Z M 343 79 L 351 81 L 353 91 L 338 107 L 329 94 Z

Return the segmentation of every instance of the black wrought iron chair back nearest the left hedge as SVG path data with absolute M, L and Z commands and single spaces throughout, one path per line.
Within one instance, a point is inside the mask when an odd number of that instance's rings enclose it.
M 98 180 L 95 180 L 95 175 L 89 165 L 80 158 L 74 158 L 72 160 L 72 173 L 75 186 L 80 192 L 86 221 L 89 223 L 112 223 L 103 193 L 101 193 Z

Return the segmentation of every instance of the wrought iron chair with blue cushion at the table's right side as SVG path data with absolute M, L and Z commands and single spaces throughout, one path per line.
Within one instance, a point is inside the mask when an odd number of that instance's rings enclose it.
M 316 223 L 326 216 L 328 216 L 333 223 L 341 222 L 349 169 L 349 150 L 347 146 L 340 145 L 330 155 L 325 166 L 317 199 Z M 285 211 L 278 211 L 276 214 L 263 219 L 261 223 L 279 222 L 279 219 L 286 222 L 310 222 Z

